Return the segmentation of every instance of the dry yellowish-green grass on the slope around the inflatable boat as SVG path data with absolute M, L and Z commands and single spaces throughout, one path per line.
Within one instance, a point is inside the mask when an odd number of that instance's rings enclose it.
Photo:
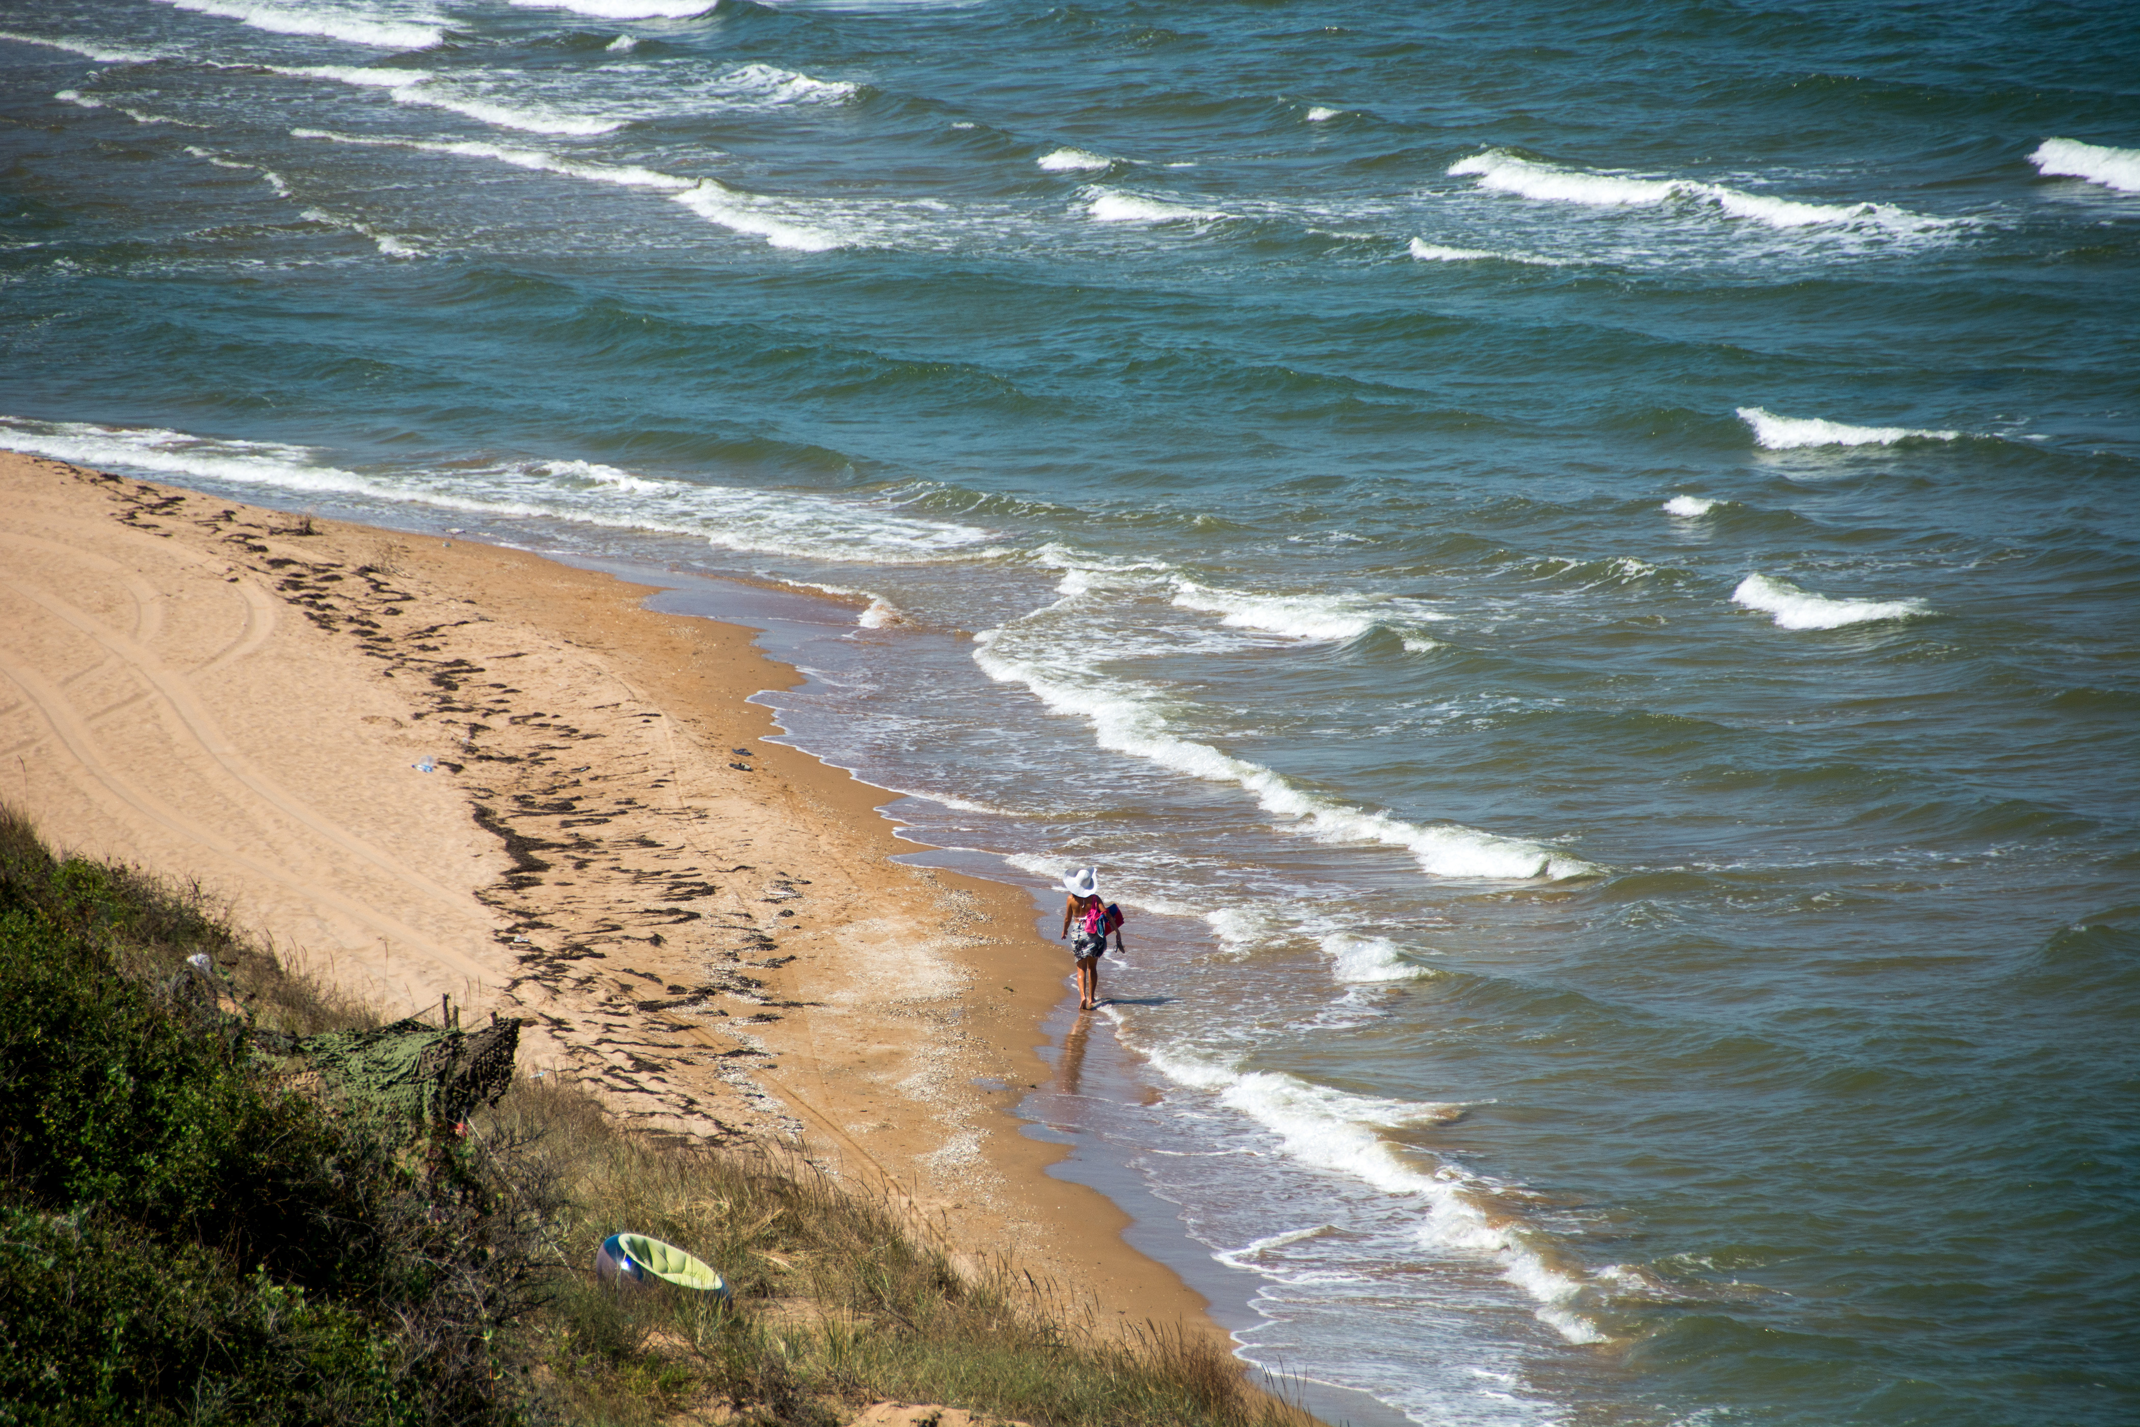
M 591 1260 L 612 1232 L 683 1245 L 732 1305 L 561 1275 L 529 1348 L 576 1421 L 670 1421 L 717 1406 L 839 1423 L 873 1399 L 1027 1423 L 1305 1425 L 1248 1388 L 1205 1335 L 1102 1335 L 1085 1311 L 1008 1267 L 959 1273 L 884 1202 L 755 1147 L 702 1151 L 618 1132 L 571 1087 L 520 1083 L 490 1115 L 567 1192 L 556 1241 Z M 580 1269 L 580 1264 L 571 1264 Z

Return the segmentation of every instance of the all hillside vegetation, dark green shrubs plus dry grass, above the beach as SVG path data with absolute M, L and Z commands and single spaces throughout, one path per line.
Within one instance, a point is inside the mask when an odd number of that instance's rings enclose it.
M 197 890 L 56 860 L 0 809 L 0 1425 L 830 1427 L 882 1397 L 1308 1423 L 1220 1344 L 1124 1341 L 1023 1275 L 961 1275 L 779 1149 L 659 1145 L 554 1078 L 411 1138 L 263 1050 L 368 1025 Z M 621 1230 L 734 1301 L 597 1284 Z

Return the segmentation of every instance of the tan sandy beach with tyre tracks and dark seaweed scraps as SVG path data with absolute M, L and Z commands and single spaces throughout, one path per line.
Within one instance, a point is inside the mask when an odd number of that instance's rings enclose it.
M 1216 1331 L 1010 1115 L 1068 956 L 762 742 L 745 700 L 794 672 L 749 631 L 6 451 L 0 509 L 0 798 L 47 841 L 197 879 L 389 1014 L 526 1016 L 526 1070 L 651 1134 L 800 1136 L 961 1254 Z

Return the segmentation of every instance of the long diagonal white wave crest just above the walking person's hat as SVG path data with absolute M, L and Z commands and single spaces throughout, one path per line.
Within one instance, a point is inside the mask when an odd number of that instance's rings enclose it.
M 1079 599 L 1079 593 L 1064 595 L 1057 605 L 1072 599 Z M 1049 608 L 1053 610 L 1055 605 Z M 1305 792 L 1273 768 L 1220 753 L 1209 745 L 1171 732 L 1164 712 L 1166 700 L 1158 689 L 1128 678 L 1115 678 L 1104 689 L 1096 689 L 1070 670 L 1053 676 L 1038 663 L 1008 655 L 1006 648 L 1014 640 L 1006 642 L 1006 633 L 1017 635 L 1014 625 L 974 635 L 974 663 L 989 678 L 1006 685 L 1025 685 L 1051 712 L 1089 721 L 1094 738 L 1102 749 L 1143 757 L 1209 783 L 1239 785 L 1267 813 L 1282 819 L 1278 826 L 1286 830 L 1325 843 L 1402 847 L 1412 854 L 1421 871 L 1436 877 L 1522 881 L 1530 877 L 1577 877 L 1594 871 L 1581 858 L 1571 858 L 1541 843 L 1496 837 L 1453 824 L 1425 828 L 1391 813 L 1374 813 Z

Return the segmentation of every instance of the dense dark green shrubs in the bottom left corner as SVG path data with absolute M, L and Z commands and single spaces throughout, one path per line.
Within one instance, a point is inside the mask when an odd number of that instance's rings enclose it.
M 0 811 L 0 1423 L 494 1423 L 524 1213 L 276 1085 L 197 894 Z M 255 980 L 272 982 L 272 958 Z M 276 999 L 280 997 L 280 999 Z

